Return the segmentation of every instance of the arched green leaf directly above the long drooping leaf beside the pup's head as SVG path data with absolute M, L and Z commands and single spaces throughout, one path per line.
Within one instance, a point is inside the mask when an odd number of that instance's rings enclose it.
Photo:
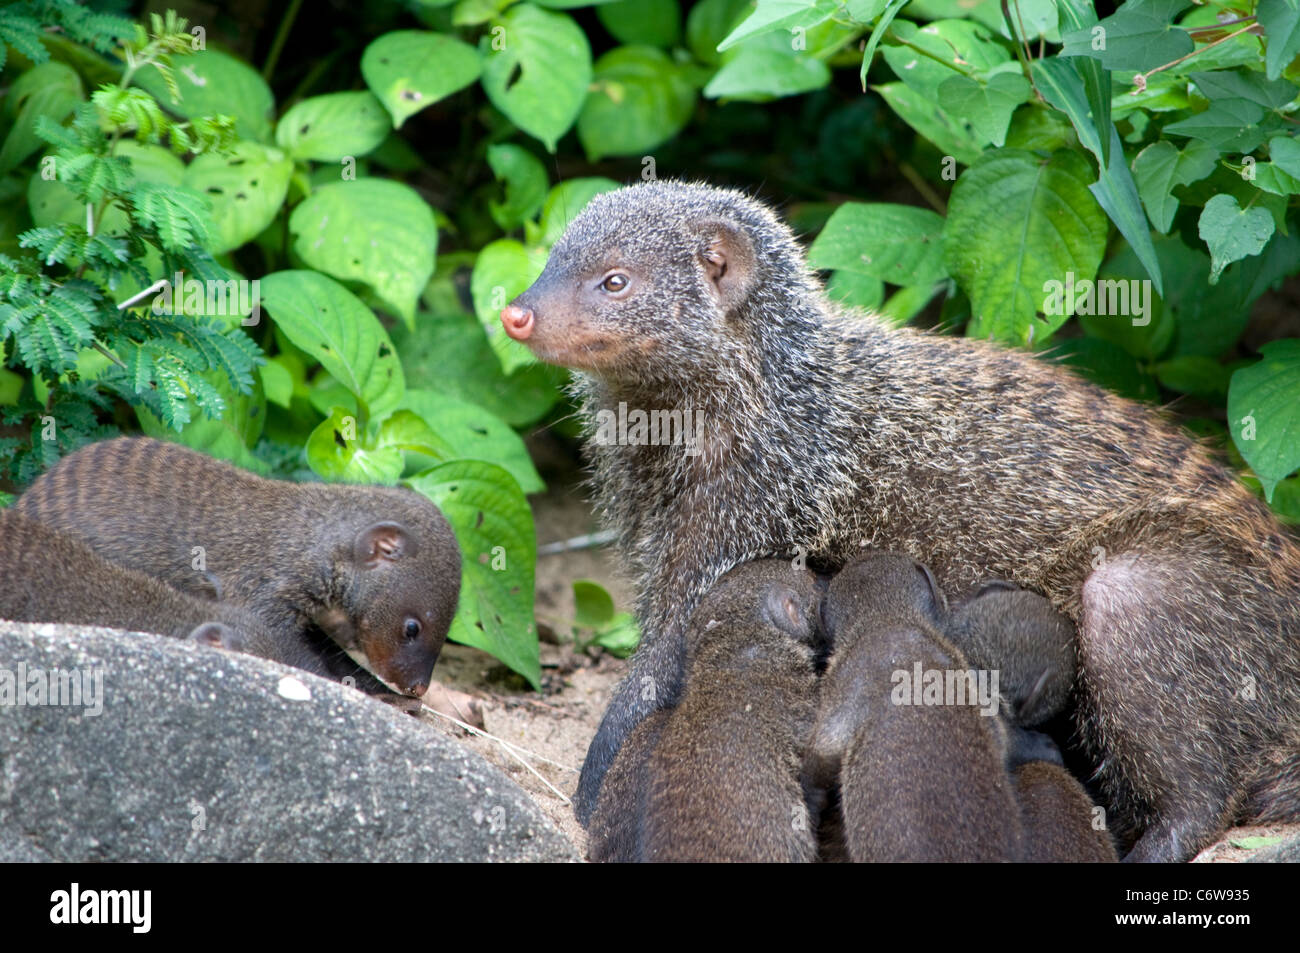
M 428 426 L 426 436 L 433 442 L 419 450 L 434 458 L 433 462 L 488 460 L 510 473 L 524 493 L 546 489 L 524 441 L 500 417 L 482 407 L 434 390 L 407 390 L 400 407 Z

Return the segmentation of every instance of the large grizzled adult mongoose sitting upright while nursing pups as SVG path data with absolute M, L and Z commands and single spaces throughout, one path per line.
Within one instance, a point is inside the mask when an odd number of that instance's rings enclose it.
M 684 620 L 723 572 L 774 553 L 835 569 L 864 546 L 950 592 L 1011 580 L 1075 623 L 1079 727 L 1131 859 L 1193 855 L 1251 790 L 1300 813 L 1300 549 L 1158 411 L 846 313 L 768 208 L 705 185 L 593 199 L 502 321 L 578 372 L 598 508 L 640 592 L 581 819 L 628 732 L 676 701 Z M 690 439 L 633 416 L 655 411 Z

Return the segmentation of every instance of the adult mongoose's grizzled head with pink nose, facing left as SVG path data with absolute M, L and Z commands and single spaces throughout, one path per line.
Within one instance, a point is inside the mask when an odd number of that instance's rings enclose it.
M 767 208 L 737 191 L 647 182 L 592 199 L 502 324 L 551 364 L 686 377 L 776 333 L 762 315 L 781 298 L 814 295 L 794 237 Z

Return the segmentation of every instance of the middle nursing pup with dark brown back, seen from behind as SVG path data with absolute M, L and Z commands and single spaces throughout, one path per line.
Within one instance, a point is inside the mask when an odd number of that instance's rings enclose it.
M 985 681 L 982 698 L 966 679 L 926 567 L 890 554 L 854 560 L 831 580 L 823 615 L 832 649 L 809 776 L 838 784 L 849 859 L 1020 859 L 996 689 Z M 949 681 L 961 697 L 945 694 Z

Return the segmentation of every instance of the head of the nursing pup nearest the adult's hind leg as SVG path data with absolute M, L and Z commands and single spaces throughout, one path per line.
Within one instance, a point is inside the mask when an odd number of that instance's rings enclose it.
M 1043 724 L 1074 685 L 1074 625 L 1037 593 L 985 582 L 948 619 L 946 634 L 979 668 L 998 670 L 1004 714 L 1013 724 Z

